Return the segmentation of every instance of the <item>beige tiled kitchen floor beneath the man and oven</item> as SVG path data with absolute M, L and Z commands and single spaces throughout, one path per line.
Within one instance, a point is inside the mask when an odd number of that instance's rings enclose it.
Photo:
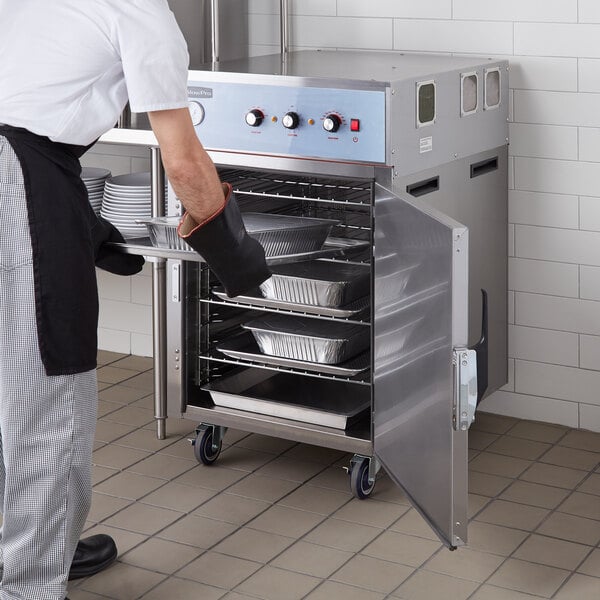
M 149 359 L 100 353 L 87 534 L 120 556 L 71 600 L 600 599 L 600 434 L 478 414 L 469 544 L 442 547 L 382 475 L 349 491 L 349 455 L 229 431 L 217 463 L 156 438 Z

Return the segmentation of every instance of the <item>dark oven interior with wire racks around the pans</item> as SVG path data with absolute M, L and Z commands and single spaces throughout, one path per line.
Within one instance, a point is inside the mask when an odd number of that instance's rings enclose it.
M 243 213 L 268 212 L 338 221 L 327 239 L 325 260 L 363 264 L 372 269 L 373 181 L 248 169 L 221 169 L 220 176 L 232 184 Z M 342 316 L 331 315 L 325 309 L 322 314 L 314 309 L 306 314 L 298 306 L 285 303 L 277 307 L 241 304 L 215 294 L 219 292 L 219 282 L 204 263 L 184 264 L 182 333 L 188 403 L 211 406 L 210 392 L 225 389 L 247 401 L 255 398 L 279 404 L 282 412 L 276 414 L 284 417 L 303 419 L 312 414 L 303 412 L 303 407 L 309 411 L 316 408 L 323 413 L 323 421 L 319 423 L 317 416 L 316 424 L 327 426 L 336 423 L 335 416 L 341 415 L 339 422 L 347 434 L 362 430 L 361 437 L 370 436 L 370 349 L 359 357 L 359 367 L 325 371 L 321 365 L 309 362 L 265 365 L 244 356 L 233 358 L 218 349 L 223 342 L 248 335 L 242 324 L 269 313 L 298 315 L 319 326 L 343 321 L 364 328 L 370 337 L 370 293 L 353 303 L 352 314 Z M 360 372 L 354 374 L 359 368 Z M 260 405 L 254 410 L 261 410 Z M 328 417 L 334 417 L 333 421 Z

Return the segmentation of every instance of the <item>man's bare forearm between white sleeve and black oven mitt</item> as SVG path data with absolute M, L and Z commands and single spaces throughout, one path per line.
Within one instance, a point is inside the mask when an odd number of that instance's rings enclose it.
M 196 223 L 223 206 L 221 181 L 202 147 L 187 108 L 149 112 L 165 172 L 177 197 Z

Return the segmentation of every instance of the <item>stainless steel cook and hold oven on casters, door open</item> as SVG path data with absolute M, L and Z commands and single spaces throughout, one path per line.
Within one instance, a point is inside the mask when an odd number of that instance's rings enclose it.
M 382 466 L 448 546 L 466 542 L 468 427 L 507 380 L 507 75 L 505 61 L 325 51 L 190 72 L 198 136 L 242 211 L 332 219 L 293 260 L 368 273 L 334 308 L 228 299 L 196 254 L 158 252 L 168 414 L 200 422 L 200 460 L 227 427 L 348 451 L 358 497 Z M 345 324 L 366 347 L 336 364 L 262 356 L 248 327 L 273 315 L 325 337 Z

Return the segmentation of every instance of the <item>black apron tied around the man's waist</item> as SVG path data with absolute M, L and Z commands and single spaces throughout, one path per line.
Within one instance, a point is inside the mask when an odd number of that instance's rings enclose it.
M 96 367 L 98 290 L 92 229 L 96 216 L 81 180 L 88 147 L 60 144 L 0 125 L 23 171 L 33 248 L 36 321 L 47 375 Z

